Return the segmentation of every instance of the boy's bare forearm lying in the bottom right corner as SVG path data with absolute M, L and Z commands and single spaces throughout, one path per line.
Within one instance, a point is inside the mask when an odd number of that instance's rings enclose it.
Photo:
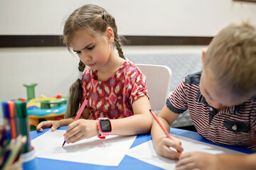
M 255 170 L 256 154 L 235 155 L 235 154 L 218 154 L 219 169 L 226 170 Z

